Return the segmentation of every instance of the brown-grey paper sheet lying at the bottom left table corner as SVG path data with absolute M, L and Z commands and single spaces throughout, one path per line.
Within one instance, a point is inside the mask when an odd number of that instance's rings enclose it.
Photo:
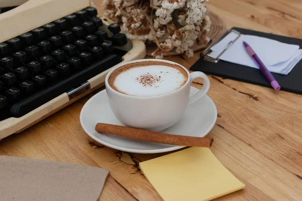
M 0 156 L 0 200 L 96 201 L 108 173 L 98 167 Z

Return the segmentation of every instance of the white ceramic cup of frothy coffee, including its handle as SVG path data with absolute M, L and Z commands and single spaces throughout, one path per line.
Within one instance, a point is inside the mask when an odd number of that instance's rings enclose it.
M 204 79 L 203 86 L 190 97 L 190 84 L 197 77 Z M 113 68 L 105 85 L 110 108 L 122 124 L 160 132 L 207 93 L 210 81 L 204 73 L 189 73 L 172 61 L 141 59 Z

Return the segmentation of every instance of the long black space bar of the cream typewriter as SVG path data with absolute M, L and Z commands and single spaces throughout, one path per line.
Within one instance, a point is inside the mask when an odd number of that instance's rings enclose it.
M 61 80 L 60 82 L 43 88 L 42 90 L 14 104 L 10 110 L 10 116 L 16 118 L 22 117 L 23 115 L 26 115 L 27 113 L 49 102 L 49 100 L 52 100 L 62 93 L 67 92 L 73 87 L 79 86 L 88 79 L 100 74 L 121 61 L 122 58 L 120 56 L 115 54 L 108 55 L 103 60 L 93 63 L 91 66 L 84 68 L 82 71 L 73 74 L 64 80 Z

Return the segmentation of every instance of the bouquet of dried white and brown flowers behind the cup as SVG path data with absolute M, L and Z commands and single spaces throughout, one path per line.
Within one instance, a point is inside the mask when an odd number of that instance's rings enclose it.
M 155 58 L 175 51 L 193 56 L 210 40 L 205 0 L 104 0 L 104 15 L 121 24 L 129 39 L 155 43 Z

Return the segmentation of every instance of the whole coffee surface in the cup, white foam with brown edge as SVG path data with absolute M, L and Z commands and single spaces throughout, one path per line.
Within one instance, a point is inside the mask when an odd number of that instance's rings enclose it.
M 133 96 L 155 96 L 170 93 L 182 87 L 188 73 L 179 65 L 160 61 L 126 64 L 117 68 L 108 78 L 116 91 Z

